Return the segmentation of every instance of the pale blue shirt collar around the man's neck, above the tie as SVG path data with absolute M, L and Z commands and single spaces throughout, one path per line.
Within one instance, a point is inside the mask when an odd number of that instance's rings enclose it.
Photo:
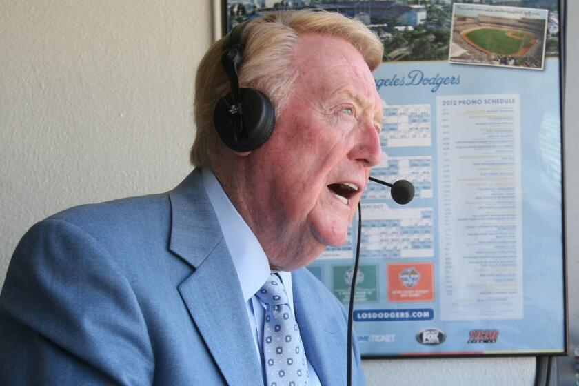
M 203 168 L 201 175 L 205 192 L 209 196 L 219 225 L 221 225 L 225 243 L 230 251 L 243 298 L 248 301 L 270 277 L 270 263 L 256 236 L 247 226 L 241 214 L 237 212 L 213 172 Z M 290 293 L 291 287 L 288 288 L 286 284 L 289 282 L 291 285 L 290 272 L 280 273 L 283 274 L 281 279 L 287 292 Z

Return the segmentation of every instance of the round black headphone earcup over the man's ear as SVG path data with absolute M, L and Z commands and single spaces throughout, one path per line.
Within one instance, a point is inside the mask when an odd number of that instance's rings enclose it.
M 272 135 L 275 110 L 270 99 L 258 90 L 242 88 L 240 94 L 243 130 L 238 132 L 238 125 L 230 114 L 232 102 L 229 94 L 217 102 L 213 123 L 225 145 L 236 152 L 250 152 L 263 145 Z

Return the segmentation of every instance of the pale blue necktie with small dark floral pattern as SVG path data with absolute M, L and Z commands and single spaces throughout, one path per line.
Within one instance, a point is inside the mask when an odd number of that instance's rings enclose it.
M 271 274 L 256 295 L 267 305 L 263 323 L 267 386 L 307 386 L 307 360 L 283 283 Z

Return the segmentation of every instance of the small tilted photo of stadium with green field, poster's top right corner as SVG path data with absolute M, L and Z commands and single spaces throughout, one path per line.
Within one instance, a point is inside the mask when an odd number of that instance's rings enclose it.
M 542 70 L 548 10 L 455 3 L 449 62 Z

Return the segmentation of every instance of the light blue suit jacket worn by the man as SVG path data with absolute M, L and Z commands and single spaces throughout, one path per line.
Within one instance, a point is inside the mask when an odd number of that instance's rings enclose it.
M 345 385 L 346 315 L 292 274 L 305 351 Z M 357 347 L 354 385 L 364 385 Z M 196 170 L 166 194 L 34 225 L 0 295 L 0 385 L 263 385 L 236 271 Z

